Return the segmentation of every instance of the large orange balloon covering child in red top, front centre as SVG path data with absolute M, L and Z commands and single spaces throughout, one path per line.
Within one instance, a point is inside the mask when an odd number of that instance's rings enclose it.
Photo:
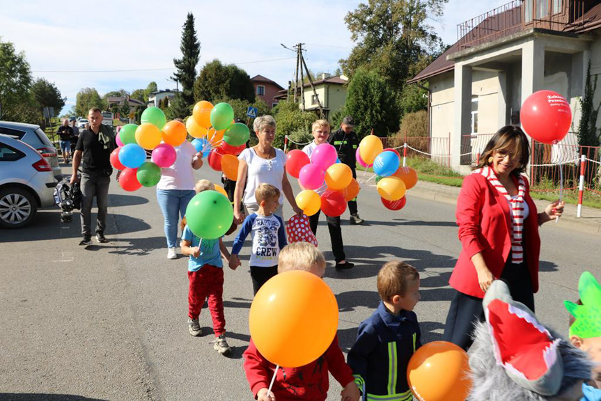
M 268 361 L 284 368 L 304 366 L 318 359 L 336 336 L 336 297 L 315 274 L 280 273 L 255 295 L 249 327 Z

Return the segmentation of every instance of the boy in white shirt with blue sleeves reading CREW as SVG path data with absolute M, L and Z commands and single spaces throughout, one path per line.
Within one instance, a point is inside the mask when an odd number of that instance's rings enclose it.
M 234 240 L 230 257 L 231 268 L 240 265 L 238 253 L 250 234 L 253 244 L 249 265 L 254 294 L 267 280 L 278 274 L 279 251 L 287 244 L 284 223 L 281 217 L 274 214 L 279 207 L 279 189 L 271 184 L 260 184 L 255 189 L 255 198 L 259 209 L 244 219 L 242 228 Z

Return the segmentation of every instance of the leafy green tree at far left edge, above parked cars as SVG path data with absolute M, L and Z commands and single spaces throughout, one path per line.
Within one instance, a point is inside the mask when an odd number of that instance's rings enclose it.
M 0 120 L 14 120 L 19 104 L 31 102 L 31 69 L 24 52 L 0 40 Z

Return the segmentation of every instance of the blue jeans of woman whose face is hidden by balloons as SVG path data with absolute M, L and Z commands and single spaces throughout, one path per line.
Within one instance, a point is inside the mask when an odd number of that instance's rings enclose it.
M 185 216 L 186 207 L 196 193 L 193 189 L 157 189 L 157 201 L 165 219 L 167 247 L 175 248 L 178 242 L 178 223 Z

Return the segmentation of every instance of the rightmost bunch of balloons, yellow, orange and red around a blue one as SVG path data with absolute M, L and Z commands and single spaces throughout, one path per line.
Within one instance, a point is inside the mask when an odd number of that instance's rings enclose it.
M 417 173 L 411 167 L 403 167 L 399 153 L 391 148 L 384 149 L 382 141 L 375 135 L 361 139 L 357 152 L 357 162 L 364 167 L 373 167 L 380 177 L 377 193 L 382 205 L 389 210 L 401 210 L 407 203 L 405 193 L 417 183 Z

